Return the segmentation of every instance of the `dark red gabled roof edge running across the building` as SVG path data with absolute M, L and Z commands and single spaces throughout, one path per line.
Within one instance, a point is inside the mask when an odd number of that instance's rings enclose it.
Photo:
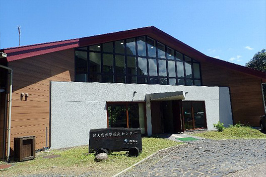
M 13 48 L 5 48 L 5 49 L 0 49 L 0 51 L 7 53 L 8 56 L 6 57 L 6 61 L 11 62 L 15 60 L 20 60 L 22 58 L 37 56 L 54 51 L 60 51 L 75 47 L 83 47 L 87 45 L 94 45 L 98 43 L 105 43 L 105 42 L 131 38 L 131 37 L 138 37 L 143 35 L 150 36 L 164 43 L 165 45 L 181 53 L 184 53 L 185 55 L 191 58 L 194 58 L 199 62 L 208 62 L 214 65 L 219 65 L 221 67 L 226 67 L 232 70 L 250 74 L 262 79 L 266 78 L 266 73 L 207 56 L 202 52 L 186 45 L 185 43 L 179 41 L 178 39 L 170 36 L 169 34 L 159 30 L 154 26 L 95 35 L 90 37 L 77 38 L 77 39 L 47 42 L 47 43 L 26 45 L 26 46 L 13 47 Z

